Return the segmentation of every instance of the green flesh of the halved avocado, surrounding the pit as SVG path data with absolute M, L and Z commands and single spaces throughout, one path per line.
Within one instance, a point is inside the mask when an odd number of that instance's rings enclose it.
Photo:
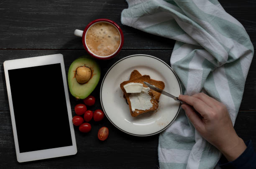
M 92 76 L 87 83 L 80 84 L 76 79 L 76 70 L 80 66 L 87 66 L 92 71 Z M 82 56 L 74 60 L 68 73 L 68 83 L 70 93 L 77 99 L 84 99 L 92 93 L 100 80 L 100 66 L 89 56 Z

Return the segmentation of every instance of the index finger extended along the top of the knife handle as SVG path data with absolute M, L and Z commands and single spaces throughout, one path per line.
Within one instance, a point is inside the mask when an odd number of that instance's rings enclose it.
M 193 106 L 195 110 L 204 118 L 208 117 L 208 112 L 210 112 L 210 107 L 203 101 L 198 98 L 187 96 L 187 95 L 180 95 L 179 98 L 188 103 L 189 105 Z

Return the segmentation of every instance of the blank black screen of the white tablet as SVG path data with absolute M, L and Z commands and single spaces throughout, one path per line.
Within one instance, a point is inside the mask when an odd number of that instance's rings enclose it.
M 20 153 L 72 146 L 61 64 L 8 73 Z

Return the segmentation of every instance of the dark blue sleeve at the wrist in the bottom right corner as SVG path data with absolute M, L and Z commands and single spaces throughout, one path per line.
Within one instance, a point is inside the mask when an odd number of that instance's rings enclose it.
M 246 141 L 246 146 L 246 150 L 234 161 L 228 162 L 222 155 L 219 166 L 222 169 L 256 169 L 256 153 L 251 140 Z

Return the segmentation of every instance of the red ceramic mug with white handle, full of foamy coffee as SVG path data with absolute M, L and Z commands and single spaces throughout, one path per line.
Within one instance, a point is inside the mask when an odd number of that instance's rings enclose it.
M 84 49 L 101 60 L 113 58 L 123 47 L 123 32 L 118 24 L 109 19 L 93 20 L 84 31 L 76 29 L 74 35 L 82 37 Z

